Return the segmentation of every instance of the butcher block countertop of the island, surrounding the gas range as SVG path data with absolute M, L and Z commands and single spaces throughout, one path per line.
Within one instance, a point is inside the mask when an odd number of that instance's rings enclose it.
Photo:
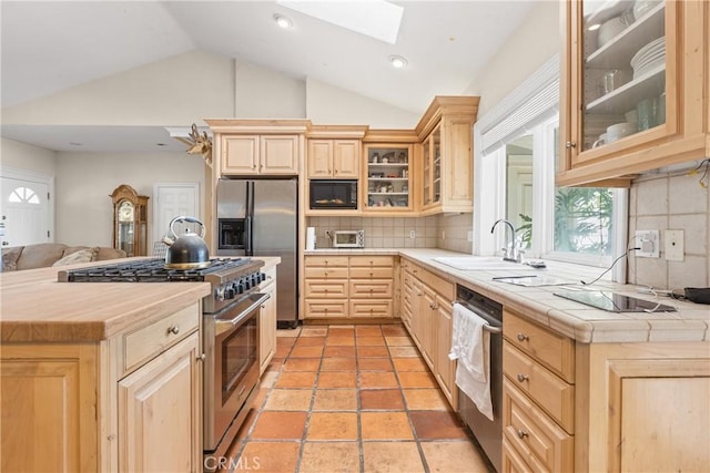
M 260 258 L 267 266 L 280 258 Z M 105 264 L 105 261 L 101 261 Z M 58 282 L 60 269 L 0 274 L 0 342 L 92 342 L 160 320 L 210 295 L 209 282 Z

